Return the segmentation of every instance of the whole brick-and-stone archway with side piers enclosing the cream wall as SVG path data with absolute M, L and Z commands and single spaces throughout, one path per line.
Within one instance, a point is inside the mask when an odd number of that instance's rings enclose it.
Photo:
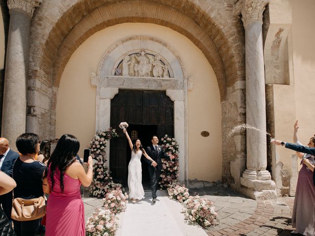
M 244 29 L 230 1 L 99 0 L 90 4 L 89 0 L 56 0 L 44 1 L 32 21 L 28 132 L 43 138 L 55 136 L 59 82 L 68 59 L 98 30 L 126 22 L 158 24 L 188 37 L 217 76 L 222 135 L 244 122 Z M 45 104 L 40 102 L 43 96 Z M 234 144 L 222 147 L 224 180 L 231 180 L 230 161 L 244 155 L 244 140 L 239 135 Z

